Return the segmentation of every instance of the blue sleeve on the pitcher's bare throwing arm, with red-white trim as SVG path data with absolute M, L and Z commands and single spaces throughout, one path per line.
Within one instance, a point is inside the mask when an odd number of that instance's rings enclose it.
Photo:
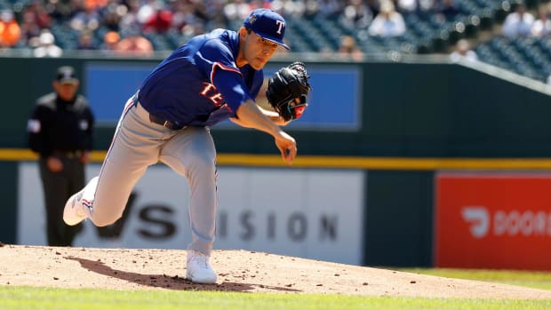
M 252 99 L 233 54 L 220 41 L 211 40 L 204 44 L 197 52 L 196 66 L 209 76 L 211 83 L 220 91 L 234 113 L 244 101 Z

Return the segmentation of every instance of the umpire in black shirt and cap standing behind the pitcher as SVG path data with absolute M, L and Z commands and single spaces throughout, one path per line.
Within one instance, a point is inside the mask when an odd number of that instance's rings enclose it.
M 70 246 L 82 226 L 63 220 L 68 197 L 84 187 L 84 165 L 90 160 L 94 117 L 84 96 L 76 93 L 80 82 L 75 69 L 64 66 L 53 80 L 54 92 L 36 99 L 28 120 L 28 145 L 40 156 L 44 188 L 46 230 L 51 246 Z

